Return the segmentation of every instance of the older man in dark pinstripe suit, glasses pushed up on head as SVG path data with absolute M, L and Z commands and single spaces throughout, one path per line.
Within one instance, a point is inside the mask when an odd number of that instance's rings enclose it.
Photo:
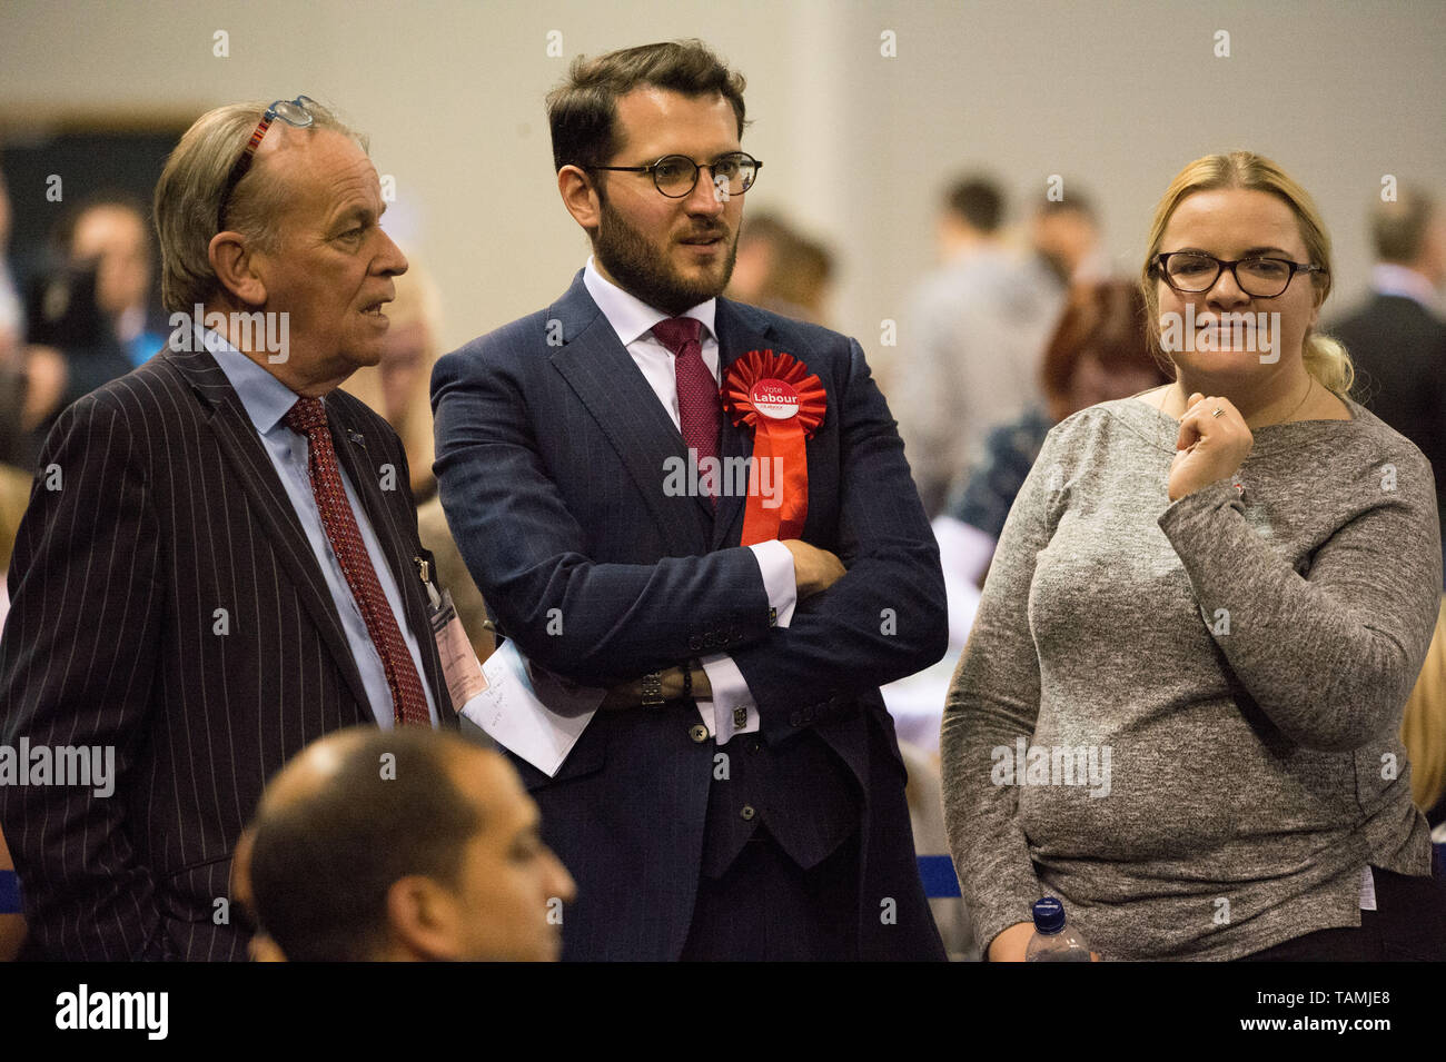
M 38 760 L 0 785 L 39 954 L 244 958 L 266 779 L 347 725 L 455 725 L 406 457 L 335 390 L 406 269 L 383 210 L 305 97 L 214 110 L 166 163 L 168 348 L 62 413 L 10 568 L 0 741 L 116 764 L 110 796 Z

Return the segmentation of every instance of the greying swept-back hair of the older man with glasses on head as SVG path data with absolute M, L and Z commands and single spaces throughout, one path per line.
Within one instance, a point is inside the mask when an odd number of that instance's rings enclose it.
M 168 311 L 189 311 L 220 289 L 208 249 L 215 236 L 215 215 L 231 168 L 241 157 L 252 131 L 269 104 L 233 103 L 207 111 L 181 137 L 156 182 L 155 218 L 161 249 L 161 301 Z M 327 107 L 311 103 L 311 129 L 331 129 L 366 150 L 366 137 L 346 126 Z M 275 250 L 281 240 L 276 207 L 283 198 L 281 182 L 266 166 L 256 165 L 236 185 L 227 205 L 228 230 L 240 233 L 262 250 Z

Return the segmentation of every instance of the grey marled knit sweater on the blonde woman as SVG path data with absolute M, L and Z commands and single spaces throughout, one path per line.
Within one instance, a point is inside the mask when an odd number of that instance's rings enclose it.
M 1432 468 L 1352 420 L 1255 429 L 1176 503 L 1138 397 L 1048 435 L 944 711 L 950 848 L 988 945 L 1044 894 L 1106 959 L 1228 959 L 1430 873 L 1398 737 L 1442 585 Z M 1235 484 L 1239 484 L 1236 487 Z

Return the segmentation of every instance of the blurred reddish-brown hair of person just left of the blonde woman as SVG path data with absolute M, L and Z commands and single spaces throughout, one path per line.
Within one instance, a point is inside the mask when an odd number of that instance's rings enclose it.
M 1142 368 L 1154 371 L 1160 383 L 1174 379 L 1173 370 L 1167 371 L 1170 363 L 1161 364 L 1155 357 L 1139 285 L 1129 280 L 1082 283 L 1070 292 L 1040 366 L 1040 386 L 1050 402 L 1051 415 L 1057 412 L 1054 406 L 1069 394 L 1074 370 L 1086 353 L 1093 354 L 1109 371 Z

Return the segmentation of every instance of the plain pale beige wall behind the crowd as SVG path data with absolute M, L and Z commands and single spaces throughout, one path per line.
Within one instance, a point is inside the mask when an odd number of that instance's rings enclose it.
M 230 58 L 213 56 L 218 29 Z M 1213 55 L 1220 29 L 1231 58 Z M 1264 152 L 1325 210 L 1338 309 L 1369 269 L 1364 211 L 1381 175 L 1437 189 L 1446 175 L 1437 0 L 7 0 L 0 121 L 328 100 L 396 178 L 395 224 L 440 280 L 450 348 L 542 306 L 586 257 L 552 181 L 542 95 L 567 59 L 547 56 L 548 30 L 568 58 L 701 36 L 742 69 L 743 143 L 766 162 L 749 205 L 788 211 L 840 253 L 834 319 L 881 361 L 879 321 L 902 315 L 928 267 L 934 201 L 960 168 L 1019 197 L 1051 173 L 1087 189 L 1134 272 L 1181 165 Z M 884 30 L 897 58 L 881 55 Z M 1173 78 L 1197 101 L 1171 97 Z

